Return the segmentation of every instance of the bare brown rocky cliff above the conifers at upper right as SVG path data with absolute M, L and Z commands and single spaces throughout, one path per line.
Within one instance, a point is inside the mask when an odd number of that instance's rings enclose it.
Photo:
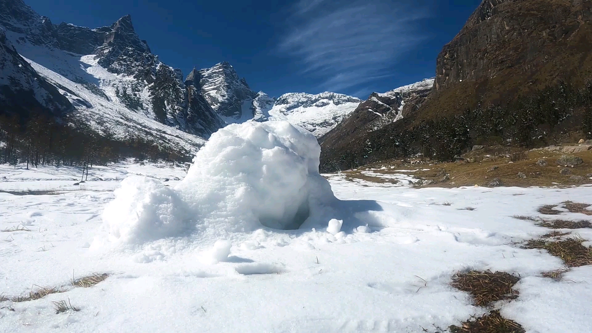
M 592 3 L 484 0 L 436 59 L 423 113 L 458 113 L 592 75 Z

